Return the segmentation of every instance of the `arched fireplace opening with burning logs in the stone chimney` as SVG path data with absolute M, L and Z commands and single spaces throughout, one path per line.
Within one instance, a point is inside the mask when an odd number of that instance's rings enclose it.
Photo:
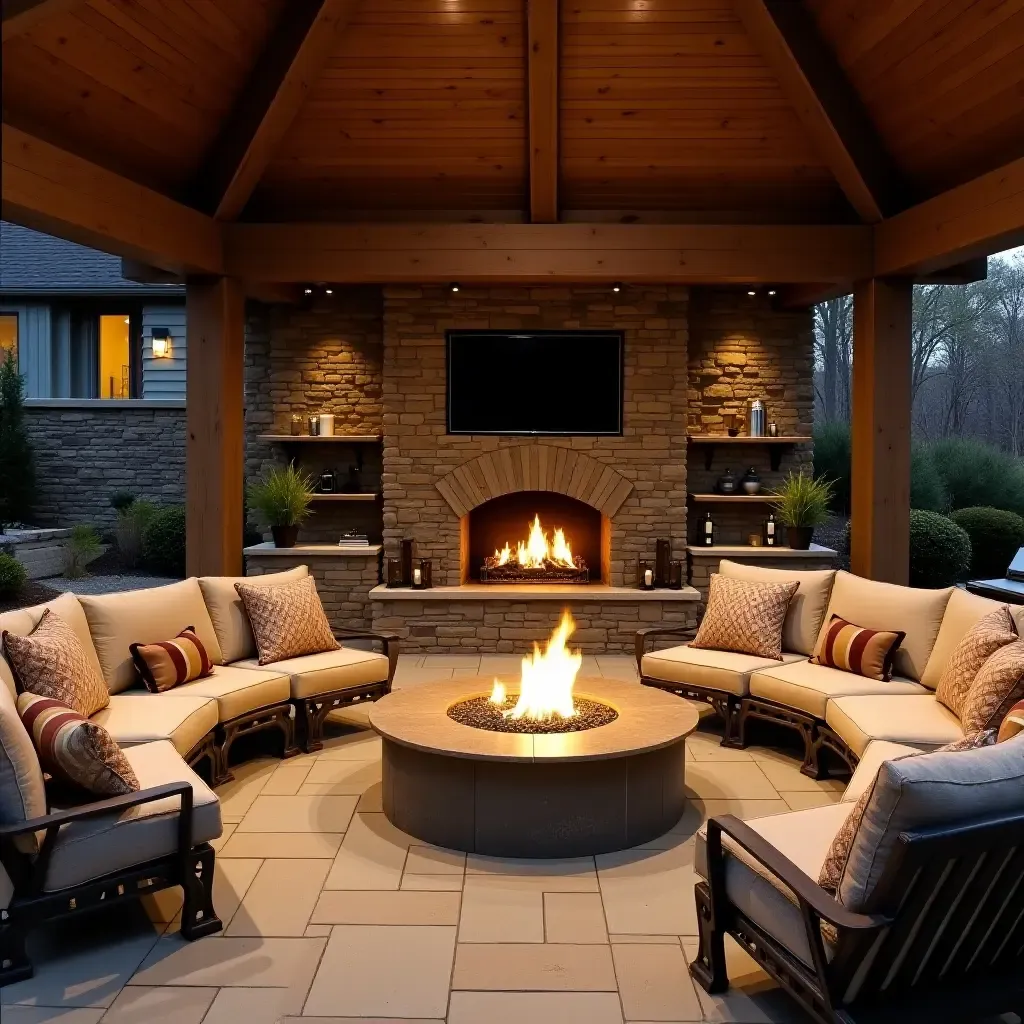
M 463 518 L 466 583 L 602 583 L 607 524 L 598 509 L 553 490 L 517 490 Z

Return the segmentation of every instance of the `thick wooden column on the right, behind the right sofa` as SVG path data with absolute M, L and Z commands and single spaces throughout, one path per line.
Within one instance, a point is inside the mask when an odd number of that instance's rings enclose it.
M 851 568 L 905 585 L 910 564 L 909 281 L 853 293 Z

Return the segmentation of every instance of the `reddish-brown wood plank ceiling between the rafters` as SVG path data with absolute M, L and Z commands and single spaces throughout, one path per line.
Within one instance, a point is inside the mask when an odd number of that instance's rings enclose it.
M 557 141 L 560 219 L 858 219 L 792 83 L 744 28 L 753 0 L 529 0 L 560 13 L 557 136 L 540 65 L 529 95 L 526 2 L 338 4 L 347 25 L 290 127 L 278 118 L 242 219 L 529 219 L 530 110 L 549 126 L 545 160 Z M 4 120 L 198 202 L 282 19 L 322 3 L 53 2 L 5 32 Z M 1024 155 L 1024 0 L 804 4 L 914 200 Z M 550 40 L 550 17 L 537 24 Z M 535 219 L 550 219 L 550 185 L 543 215 L 536 187 L 551 170 L 535 173 Z

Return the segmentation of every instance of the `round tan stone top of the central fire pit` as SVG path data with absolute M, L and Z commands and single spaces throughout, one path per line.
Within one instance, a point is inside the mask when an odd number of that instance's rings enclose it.
M 394 690 L 370 708 L 370 724 L 413 750 L 481 761 L 596 761 L 655 751 L 678 742 L 697 726 L 687 701 L 662 690 L 596 676 L 577 677 L 573 695 L 610 705 L 618 718 L 583 732 L 489 732 L 447 716 L 460 700 L 490 693 L 494 676 L 444 680 Z M 502 680 L 509 693 L 517 684 Z

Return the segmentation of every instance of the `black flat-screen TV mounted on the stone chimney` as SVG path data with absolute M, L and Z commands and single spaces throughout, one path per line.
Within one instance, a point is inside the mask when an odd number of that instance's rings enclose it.
M 621 434 L 621 331 L 449 331 L 450 434 Z

